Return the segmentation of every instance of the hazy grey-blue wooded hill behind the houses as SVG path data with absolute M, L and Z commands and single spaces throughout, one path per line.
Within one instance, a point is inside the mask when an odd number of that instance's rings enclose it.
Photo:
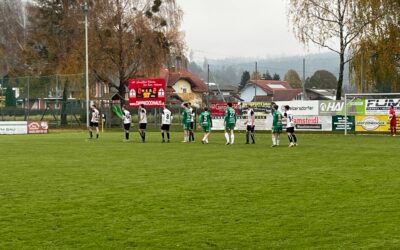
M 294 69 L 303 77 L 303 57 L 290 56 L 280 58 L 226 58 L 226 59 L 205 59 L 206 63 L 210 64 L 210 71 L 213 74 L 213 81 L 221 82 L 222 84 L 237 85 L 240 82 L 242 72 L 247 70 L 250 73 L 255 71 L 255 62 L 257 61 L 258 72 L 262 75 L 268 70 L 279 74 L 281 79 L 284 78 L 289 69 Z M 317 70 L 327 70 L 333 73 L 336 78 L 339 76 L 339 56 L 335 53 L 310 54 L 305 56 L 305 77 L 311 77 Z M 197 62 L 197 71 L 203 68 L 205 62 Z M 347 66 L 347 65 L 346 65 Z M 192 70 L 189 67 L 190 70 Z M 194 70 L 194 69 L 193 69 Z M 224 73 L 226 72 L 226 73 Z M 344 72 L 344 85 L 349 83 L 348 67 Z M 201 75 L 201 74 L 200 74 Z M 201 75 L 205 79 L 206 75 Z

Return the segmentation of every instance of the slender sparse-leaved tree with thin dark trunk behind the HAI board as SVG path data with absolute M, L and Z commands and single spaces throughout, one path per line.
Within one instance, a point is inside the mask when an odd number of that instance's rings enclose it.
M 359 19 L 358 0 L 290 0 L 289 20 L 298 39 L 337 53 L 340 58 L 336 99 L 340 100 L 349 47 L 362 36 L 370 19 Z

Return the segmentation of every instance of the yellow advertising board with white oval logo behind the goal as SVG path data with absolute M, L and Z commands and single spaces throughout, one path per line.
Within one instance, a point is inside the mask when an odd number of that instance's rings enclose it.
M 356 116 L 357 132 L 387 132 L 390 130 L 387 115 L 360 115 Z

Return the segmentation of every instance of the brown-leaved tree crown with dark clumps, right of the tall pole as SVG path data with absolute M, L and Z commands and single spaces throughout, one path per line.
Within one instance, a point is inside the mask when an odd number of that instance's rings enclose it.
M 183 51 L 175 0 L 99 0 L 92 5 L 91 68 L 124 96 L 128 79 L 151 76 Z

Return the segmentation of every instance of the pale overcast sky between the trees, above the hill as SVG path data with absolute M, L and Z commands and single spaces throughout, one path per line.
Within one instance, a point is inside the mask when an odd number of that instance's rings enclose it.
M 278 57 L 326 52 L 305 48 L 288 24 L 287 0 L 177 0 L 194 59 Z

